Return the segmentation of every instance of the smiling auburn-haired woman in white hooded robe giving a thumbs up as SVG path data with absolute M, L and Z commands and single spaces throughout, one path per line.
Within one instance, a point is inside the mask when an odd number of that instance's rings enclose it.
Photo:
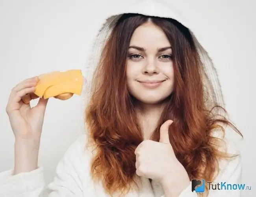
M 241 158 L 223 135 L 239 131 L 225 118 L 208 54 L 171 9 L 147 1 L 109 17 L 84 73 L 86 134 L 46 190 L 37 158 L 48 100 L 33 109 L 22 103 L 37 77 L 13 89 L 6 109 L 15 168 L 0 174 L 1 197 L 240 196 L 213 190 L 239 182 Z M 202 179 L 205 191 L 195 189 Z

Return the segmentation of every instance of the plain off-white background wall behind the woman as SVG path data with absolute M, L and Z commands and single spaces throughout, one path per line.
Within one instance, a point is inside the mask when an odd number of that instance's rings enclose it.
M 170 0 L 168 0 L 170 1 Z M 14 137 L 5 112 L 11 88 L 44 72 L 82 69 L 99 22 L 136 0 L 0 0 L 0 171 L 13 168 Z M 241 129 L 243 183 L 256 186 L 256 3 L 254 0 L 173 0 L 201 32 L 223 87 L 226 109 Z M 192 4 L 191 4 L 192 3 Z M 81 100 L 50 99 L 39 164 L 46 182 L 69 145 L 83 133 Z M 254 197 L 253 191 L 244 196 Z

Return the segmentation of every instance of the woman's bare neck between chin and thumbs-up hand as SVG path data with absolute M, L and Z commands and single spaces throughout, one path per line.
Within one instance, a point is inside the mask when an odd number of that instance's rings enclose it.
M 138 101 L 136 103 L 135 109 L 143 132 L 144 140 L 150 139 L 153 131 L 156 129 L 158 120 L 165 105 L 166 102 L 146 104 Z

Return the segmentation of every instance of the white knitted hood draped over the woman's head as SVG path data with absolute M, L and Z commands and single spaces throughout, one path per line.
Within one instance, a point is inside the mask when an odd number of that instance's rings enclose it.
M 167 4 L 167 2 L 163 2 L 163 0 L 138 0 L 136 4 L 130 5 L 131 7 L 123 6 L 116 8 L 116 10 L 113 11 L 111 15 L 106 18 L 101 28 L 99 29 L 98 34 L 96 35 L 95 41 L 90 50 L 91 54 L 89 55 L 89 59 L 85 64 L 84 70 L 82 71 L 83 76 L 87 80 L 87 82 L 83 86 L 83 103 L 85 104 L 85 107 L 91 96 L 90 90 L 91 84 L 93 82 L 93 74 L 96 70 L 96 67 L 98 66 L 102 49 L 106 43 L 108 36 L 113 30 L 115 23 L 124 13 L 138 13 L 148 16 L 173 18 L 186 26 L 190 30 L 190 33 L 195 42 L 195 46 L 200 55 L 200 59 L 204 66 L 204 87 L 205 90 L 207 90 L 210 94 L 210 99 L 208 98 L 207 101 L 208 109 L 211 109 L 213 105 L 219 105 L 221 107 L 224 107 L 223 95 L 221 91 L 221 86 L 219 84 L 217 71 L 204 46 L 202 46 L 202 43 L 200 42 L 200 37 L 196 35 L 195 29 L 193 31 L 193 27 L 191 27 L 191 24 L 185 21 L 172 5 L 170 5 L 169 3 Z

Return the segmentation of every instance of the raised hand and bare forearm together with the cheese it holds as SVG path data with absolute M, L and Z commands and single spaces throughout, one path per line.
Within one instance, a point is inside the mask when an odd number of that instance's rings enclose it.
M 80 70 L 51 72 L 26 79 L 11 91 L 6 106 L 11 128 L 15 135 L 15 166 L 13 174 L 38 168 L 40 138 L 48 98 L 69 99 L 82 92 Z M 32 99 L 39 98 L 35 107 Z

